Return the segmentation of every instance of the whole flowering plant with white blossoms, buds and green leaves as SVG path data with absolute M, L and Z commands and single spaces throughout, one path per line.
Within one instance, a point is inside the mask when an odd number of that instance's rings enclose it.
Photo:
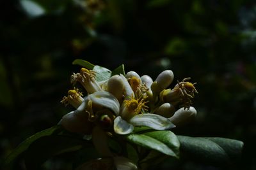
M 171 70 L 153 81 L 134 71 L 125 74 L 124 65 L 110 71 L 80 59 L 73 64 L 83 67 L 72 74 L 73 89 L 61 103 L 75 110 L 58 125 L 21 143 L 6 159 L 10 169 L 19 157 L 27 169 L 37 169 L 52 155 L 70 152 L 82 155 L 78 162 L 74 160 L 77 170 L 147 169 L 166 157 L 179 159 L 183 153 L 223 163 L 241 153 L 241 141 L 176 136 L 171 131 L 196 116 L 191 104 L 198 92 L 190 78 L 167 89 L 173 81 Z M 77 83 L 86 90 L 85 96 L 75 87 Z

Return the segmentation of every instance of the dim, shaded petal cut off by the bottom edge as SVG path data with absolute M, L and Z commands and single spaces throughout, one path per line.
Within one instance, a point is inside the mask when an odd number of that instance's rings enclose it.
M 117 170 L 137 170 L 138 167 L 125 157 L 114 157 Z

